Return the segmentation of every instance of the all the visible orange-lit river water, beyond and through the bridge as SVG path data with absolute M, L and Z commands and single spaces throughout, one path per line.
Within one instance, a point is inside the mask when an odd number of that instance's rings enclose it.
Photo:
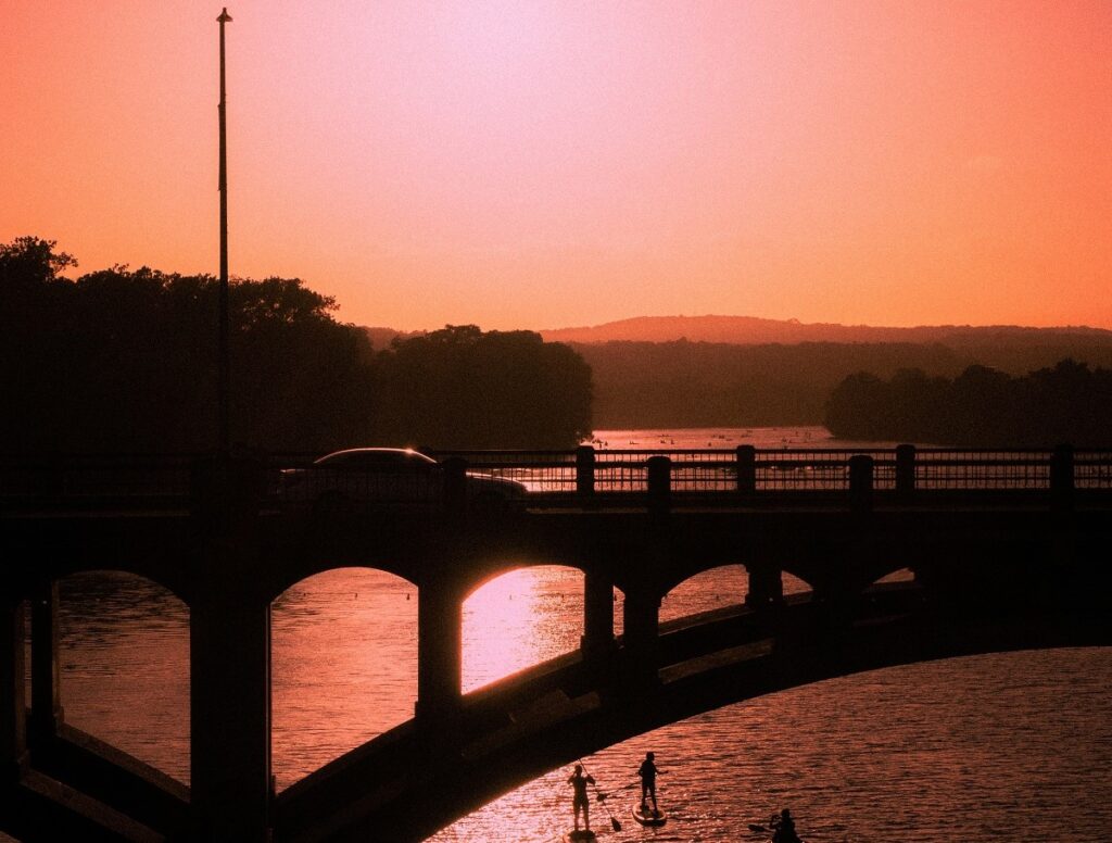
M 814 427 L 595 438 L 610 448 L 885 445 Z M 464 607 L 465 691 L 576 647 L 582 588 L 577 572 L 542 567 L 475 592 Z M 744 568 L 707 572 L 665 598 L 662 619 L 745 591 Z M 67 578 L 61 595 L 67 720 L 188 782 L 185 606 L 111 572 Z M 620 631 L 620 603 L 615 615 Z M 279 790 L 411 716 L 416 629 L 415 589 L 381 572 L 321 574 L 275 603 Z M 592 802 L 592 825 L 604 843 L 764 841 L 747 824 L 788 806 L 810 843 L 1103 843 L 1112 840 L 1110 688 L 1112 649 L 1054 649 L 888 668 L 727 706 L 584 758 L 603 791 L 615 792 Z M 629 816 L 634 792 L 617 792 L 646 751 L 664 771 L 659 796 L 671 815 L 655 831 Z M 558 840 L 570 822 L 569 772 L 552 771 L 431 841 Z

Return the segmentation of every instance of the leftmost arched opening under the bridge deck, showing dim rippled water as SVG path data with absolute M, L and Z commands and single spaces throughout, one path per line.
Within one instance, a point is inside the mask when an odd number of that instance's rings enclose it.
M 32 742 L 48 758 L 75 742 L 103 742 L 148 780 L 188 781 L 190 607 L 182 597 L 133 569 L 106 566 L 41 583 L 29 604 Z

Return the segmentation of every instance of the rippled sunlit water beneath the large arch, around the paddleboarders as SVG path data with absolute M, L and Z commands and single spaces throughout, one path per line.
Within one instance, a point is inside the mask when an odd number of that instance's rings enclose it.
M 633 822 L 636 790 L 593 802 L 604 843 L 726 843 L 790 806 L 807 841 L 1106 841 L 1112 822 L 1112 651 L 911 665 L 727 706 L 585 758 L 605 792 L 656 753 L 668 824 Z M 433 837 L 543 843 L 570 823 L 569 768 Z M 608 806 L 623 829 L 613 832 Z M 1063 833 L 1070 830 L 1070 833 Z

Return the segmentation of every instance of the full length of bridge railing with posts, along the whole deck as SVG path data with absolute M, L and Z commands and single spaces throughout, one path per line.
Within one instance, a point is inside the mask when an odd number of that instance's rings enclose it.
M 455 450 L 429 453 L 439 462 L 427 476 L 399 469 L 350 473 L 350 490 L 403 489 L 405 500 L 438 504 L 450 494 L 449 478 L 493 477 L 528 489 L 529 505 L 586 503 L 620 505 L 648 498 L 682 502 L 759 503 L 843 498 L 854 505 L 874 499 L 912 502 L 974 493 L 1031 493 L 1054 500 L 1112 493 L 1112 448 L 807 448 Z M 317 455 L 249 454 L 262 468 L 256 490 L 281 503 L 289 469 L 310 476 Z M 0 457 L 0 507 L 131 503 L 187 504 L 197 455 L 69 455 Z M 335 469 L 332 469 L 335 472 Z M 384 474 L 385 472 L 385 474 Z M 460 480 L 463 483 L 463 480 Z M 457 484 L 458 485 L 458 484 Z M 342 490 L 342 489 L 341 489 Z M 991 494 L 990 494 L 991 493 Z

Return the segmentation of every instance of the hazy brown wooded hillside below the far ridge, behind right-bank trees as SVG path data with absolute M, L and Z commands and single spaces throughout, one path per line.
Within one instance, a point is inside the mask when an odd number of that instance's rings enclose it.
M 981 364 L 1021 375 L 1065 357 L 1112 367 L 1104 333 L 1031 337 L 983 329 L 947 344 L 676 340 L 572 347 L 594 374 L 594 417 L 602 429 L 818 425 L 831 393 L 855 371 L 891 378 L 920 369 L 929 378 L 953 379 Z

